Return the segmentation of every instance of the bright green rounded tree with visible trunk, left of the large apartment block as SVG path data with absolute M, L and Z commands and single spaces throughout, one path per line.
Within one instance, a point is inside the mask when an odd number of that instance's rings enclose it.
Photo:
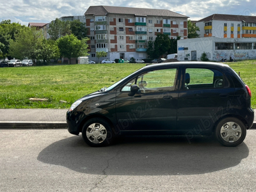
M 60 50 L 60 56 L 66 57 L 69 60 L 71 58 L 77 58 L 79 56 L 87 56 L 88 55 L 88 44 L 86 41 L 88 38 L 84 38 L 83 40 L 77 39 L 73 34 L 61 36 L 57 40 L 57 44 Z

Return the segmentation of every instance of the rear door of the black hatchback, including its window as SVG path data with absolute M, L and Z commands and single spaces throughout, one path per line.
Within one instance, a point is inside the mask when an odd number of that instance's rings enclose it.
M 229 110 L 234 88 L 230 88 L 227 77 L 218 68 L 186 67 L 182 74 L 177 130 L 193 131 L 193 134 L 210 132 Z

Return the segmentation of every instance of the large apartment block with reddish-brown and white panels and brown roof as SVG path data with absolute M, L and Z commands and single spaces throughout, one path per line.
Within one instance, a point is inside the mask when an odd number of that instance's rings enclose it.
M 90 60 L 97 60 L 98 51 L 108 52 L 110 60 L 143 59 L 147 58 L 147 42 L 154 41 L 157 33 L 188 37 L 188 17 L 170 10 L 90 6 L 84 15 Z

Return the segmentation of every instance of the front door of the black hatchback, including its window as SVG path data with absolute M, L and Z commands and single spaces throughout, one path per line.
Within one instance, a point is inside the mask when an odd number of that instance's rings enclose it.
M 177 68 L 144 72 L 116 91 L 116 118 L 121 131 L 170 131 L 177 120 Z M 131 94 L 132 84 L 140 90 Z

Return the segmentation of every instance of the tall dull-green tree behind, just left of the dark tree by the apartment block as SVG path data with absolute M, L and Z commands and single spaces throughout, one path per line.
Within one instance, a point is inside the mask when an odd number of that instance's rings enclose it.
M 51 36 L 52 40 L 57 40 L 61 36 L 70 35 L 70 22 L 69 21 L 62 21 L 56 18 L 54 21 L 49 24 L 49 29 L 47 31 Z

